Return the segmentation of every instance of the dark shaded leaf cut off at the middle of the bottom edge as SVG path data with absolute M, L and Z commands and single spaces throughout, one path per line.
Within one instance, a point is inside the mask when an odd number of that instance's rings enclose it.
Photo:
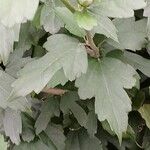
M 96 137 L 89 137 L 85 130 L 70 131 L 66 140 L 66 150 L 102 150 Z

